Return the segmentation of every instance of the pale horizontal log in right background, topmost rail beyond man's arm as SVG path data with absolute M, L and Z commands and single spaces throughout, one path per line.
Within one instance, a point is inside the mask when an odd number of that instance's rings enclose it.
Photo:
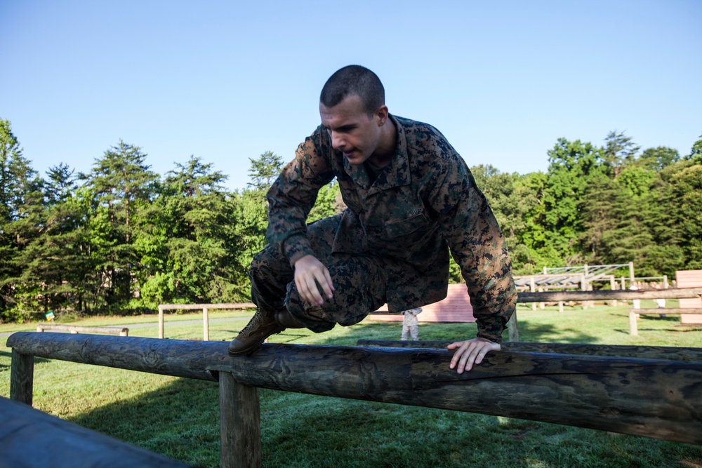
M 517 302 L 558 302 L 614 299 L 690 299 L 702 296 L 702 288 L 673 288 L 653 290 L 548 291 L 517 293 Z

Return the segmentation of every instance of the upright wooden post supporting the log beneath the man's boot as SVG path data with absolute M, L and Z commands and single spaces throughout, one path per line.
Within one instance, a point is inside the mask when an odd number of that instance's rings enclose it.
M 241 385 L 231 373 L 219 373 L 220 467 L 261 467 L 258 388 Z

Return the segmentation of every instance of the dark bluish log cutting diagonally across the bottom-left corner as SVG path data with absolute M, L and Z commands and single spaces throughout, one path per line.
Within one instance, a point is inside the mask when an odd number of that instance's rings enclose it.
M 187 467 L 1 396 L 0 421 L 2 467 Z

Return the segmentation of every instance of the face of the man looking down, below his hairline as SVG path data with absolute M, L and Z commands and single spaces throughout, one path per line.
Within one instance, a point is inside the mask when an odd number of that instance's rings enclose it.
M 347 96 L 333 107 L 320 102 L 319 115 L 329 131 L 331 146 L 343 152 L 349 163 L 362 164 L 376 151 L 382 122 L 377 113 L 366 113 L 357 95 Z

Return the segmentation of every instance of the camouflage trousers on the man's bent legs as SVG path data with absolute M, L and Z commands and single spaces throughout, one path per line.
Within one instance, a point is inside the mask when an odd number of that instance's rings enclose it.
M 332 252 L 340 221 L 341 215 L 336 215 L 307 226 L 314 256 L 329 269 L 333 297 L 321 306 L 302 300 L 288 258 L 269 245 L 253 258 L 249 274 L 251 299 L 262 312 L 286 307 L 306 328 L 320 333 L 336 323 L 358 323 L 385 304 L 385 262 L 380 256 Z

